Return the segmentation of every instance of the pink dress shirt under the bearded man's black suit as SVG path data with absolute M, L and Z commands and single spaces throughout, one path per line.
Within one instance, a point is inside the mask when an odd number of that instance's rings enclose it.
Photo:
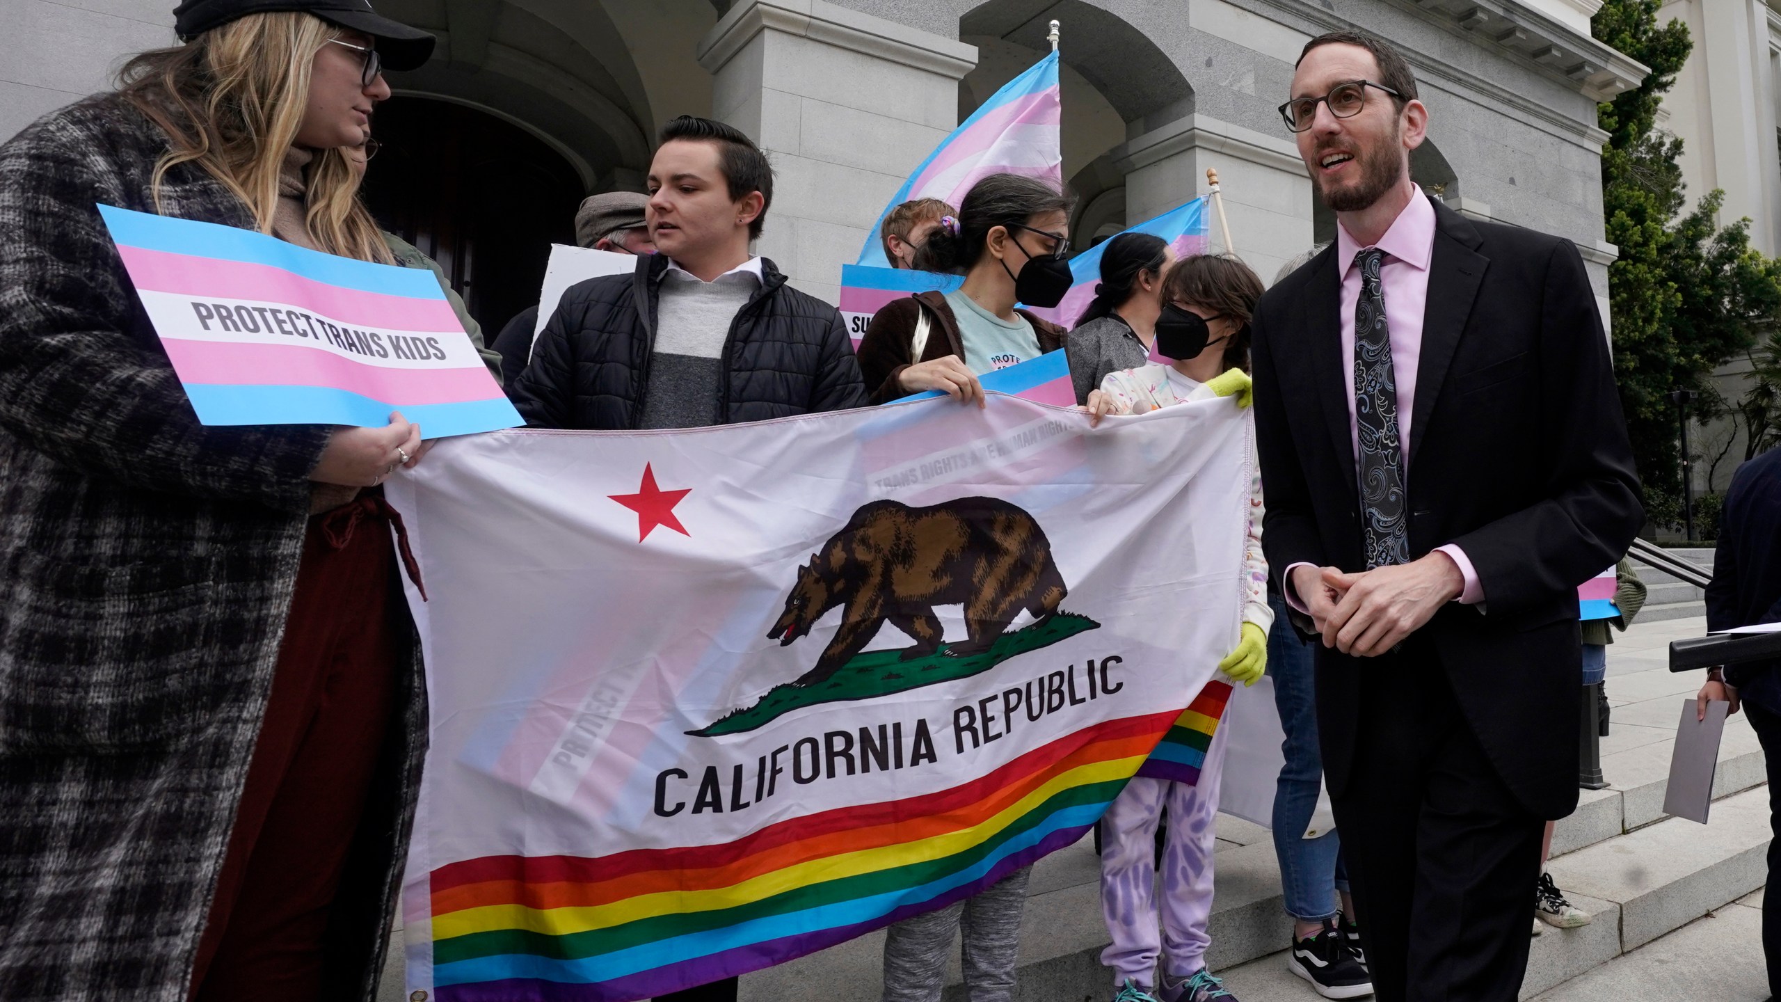
M 1411 415 L 1416 412 L 1416 362 L 1423 355 L 1423 312 L 1428 307 L 1428 262 L 1435 250 L 1435 207 L 1428 198 L 1416 193 L 1411 201 L 1391 221 L 1386 235 L 1373 244 L 1386 251 L 1378 267 L 1378 280 L 1386 296 L 1386 326 L 1391 332 L 1391 373 L 1398 387 L 1398 446 L 1403 449 L 1403 476 L 1409 487 L 1411 476 Z M 1348 228 L 1336 223 L 1336 267 L 1341 275 L 1341 357 L 1343 383 L 1348 387 L 1348 440 L 1354 442 L 1355 462 L 1361 458 L 1361 430 L 1354 421 L 1354 307 L 1361 301 L 1361 269 L 1354 259 L 1368 248 L 1348 235 Z M 1453 544 L 1437 546 L 1441 553 L 1453 558 L 1466 590 L 1459 601 L 1476 604 L 1484 601 L 1484 587 L 1478 583 L 1478 571 L 1473 569 L 1466 551 Z M 1286 569 L 1286 601 L 1298 612 L 1305 606 L 1293 590 L 1293 563 Z

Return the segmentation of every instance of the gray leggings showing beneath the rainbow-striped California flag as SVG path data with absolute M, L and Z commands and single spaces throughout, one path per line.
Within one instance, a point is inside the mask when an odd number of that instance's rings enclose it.
M 971 1002 L 1008 1002 L 1026 909 L 1022 866 L 983 891 L 890 925 L 885 936 L 883 1002 L 940 1002 L 953 929 L 964 929 L 965 990 Z

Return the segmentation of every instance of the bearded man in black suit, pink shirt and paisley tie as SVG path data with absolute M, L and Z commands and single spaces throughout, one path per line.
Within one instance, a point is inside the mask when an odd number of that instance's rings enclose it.
M 1507 1002 L 1542 822 L 1576 806 L 1576 587 L 1644 521 L 1608 342 L 1569 241 L 1411 182 L 1395 50 L 1313 39 L 1281 112 L 1339 232 L 1256 310 L 1263 544 L 1322 640 L 1373 986 Z

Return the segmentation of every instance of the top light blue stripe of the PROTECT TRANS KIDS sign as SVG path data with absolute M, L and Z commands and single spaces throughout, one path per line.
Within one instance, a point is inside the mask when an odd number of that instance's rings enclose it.
M 155 216 L 112 205 L 100 205 L 98 209 L 105 219 L 105 228 L 110 230 L 112 241 L 128 248 L 267 264 L 301 275 L 303 278 L 360 292 L 383 292 L 385 296 L 406 296 L 411 300 L 445 298 L 438 278 L 422 267 L 372 264 L 369 260 L 312 251 L 278 237 L 255 234 L 239 226 L 223 226 L 219 223 Z M 203 267 L 203 262 L 194 262 L 194 266 Z M 228 294 L 226 289 L 217 289 L 217 292 Z

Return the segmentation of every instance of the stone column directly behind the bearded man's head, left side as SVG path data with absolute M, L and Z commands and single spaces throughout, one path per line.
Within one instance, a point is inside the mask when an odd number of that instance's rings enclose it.
M 1311 250 L 1311 178 L 1286 139 L 1190 114 L 1115 146 L 1111 157 L 1126 171 L 1127 223 L 1204 194 L 1206 168 L 1213 168 L 1234 250 L 1265 283 Z M 1224 250 L 1216 216 L 1208 234 L 1209 248 Z

